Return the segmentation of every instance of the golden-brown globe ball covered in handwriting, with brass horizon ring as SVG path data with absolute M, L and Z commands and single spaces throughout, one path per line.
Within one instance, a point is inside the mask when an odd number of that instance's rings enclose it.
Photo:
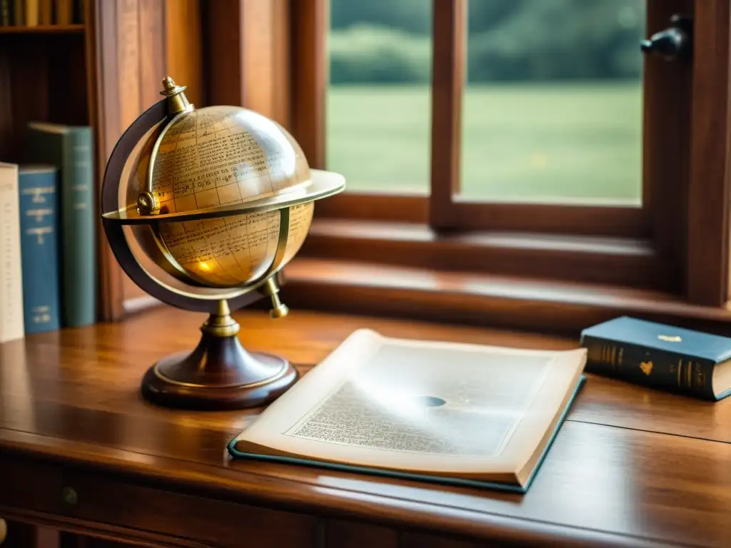
M 276 121 L 243 107 L 197 109 L 183 90 L 164 80 L 169 112 L 135 143 L 105 227 L 123 225 L 135 262 L 164 272 L 152 278 L 167 289 L 257 289 L 297 254 L 314 201 L 344 189 L 344 178 L 312 170 Z

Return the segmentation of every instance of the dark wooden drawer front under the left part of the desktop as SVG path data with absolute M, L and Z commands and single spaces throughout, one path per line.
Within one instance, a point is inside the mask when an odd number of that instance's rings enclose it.
M 81 470 L 67 471 L 64 479 L 67 495 L 72 493 L 64 515 L 79 520 L 216 547 L 314 547 L 317 539 L 317 520 L 311 516 L 183 495 Z

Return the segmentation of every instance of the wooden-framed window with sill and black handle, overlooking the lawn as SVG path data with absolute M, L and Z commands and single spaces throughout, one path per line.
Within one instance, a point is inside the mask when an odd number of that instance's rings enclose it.
M 346 175 L 285 273 L 300 303 L 731 321 L 730 4 L 200 3 L 202 104 L 260 110 Z M 641 53 L 675 15 L 687 55 Z

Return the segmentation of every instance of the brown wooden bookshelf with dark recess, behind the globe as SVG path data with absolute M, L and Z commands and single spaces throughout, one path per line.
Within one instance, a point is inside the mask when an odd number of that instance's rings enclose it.
M 29 121 L 90 126 L 97 194 L 106 160 L 166 72 L 165 2 L 88 0 L 84 24 L 0 26 L 0 161 L 26 161 Z M 99 223 L 99 320 L 121 317 L 123 280 Z

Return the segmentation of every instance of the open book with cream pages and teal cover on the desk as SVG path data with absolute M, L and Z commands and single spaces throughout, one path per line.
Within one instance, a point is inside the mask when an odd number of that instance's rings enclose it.
M 229 451 L 524 492 L 585 362 L 585 349 L 507 349 L 357 330 Z

